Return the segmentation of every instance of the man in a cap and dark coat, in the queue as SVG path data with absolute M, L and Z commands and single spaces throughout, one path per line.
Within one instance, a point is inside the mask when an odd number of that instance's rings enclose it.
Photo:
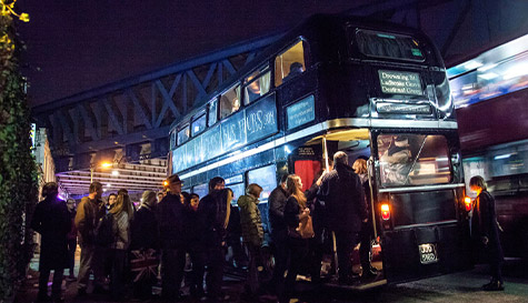
M 181 204 L 182 182 L 178 174 L 168 179 L 169 192 L 159 202 L 157 216 L 161 244 L 161 296 L 168 301 L 181 300 L 180 285 L 186 265 L 183 212 Z

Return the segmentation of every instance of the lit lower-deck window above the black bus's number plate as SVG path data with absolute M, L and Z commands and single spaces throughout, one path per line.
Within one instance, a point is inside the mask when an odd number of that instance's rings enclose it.
M 377 139 L 382 186 L 451 181 L 449 148 L 440 134 L 380 134 Z

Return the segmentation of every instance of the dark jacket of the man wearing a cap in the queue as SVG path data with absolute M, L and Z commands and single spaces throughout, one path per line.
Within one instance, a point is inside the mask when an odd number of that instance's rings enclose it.
M 183 248 L 183 204 L 179 194 L 168 193 L 157 210 L 161 249 Z

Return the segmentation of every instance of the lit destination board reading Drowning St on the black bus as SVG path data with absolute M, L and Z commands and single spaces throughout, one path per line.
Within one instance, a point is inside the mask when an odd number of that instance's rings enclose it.
M 424 95 L 417 72 L 378 70 L 378 75 L 383 93 Z

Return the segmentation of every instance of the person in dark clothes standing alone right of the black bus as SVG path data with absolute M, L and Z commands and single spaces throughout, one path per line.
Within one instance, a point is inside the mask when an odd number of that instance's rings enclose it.
M 499 225 L 495 211 L 495 199 L 488 192 L 486 181 L 476 175 L 469 180 L 469 189 L 477 193 L 472 205 L 471 239 L 477 253 L 484 253 L 489 263 L 491 281 L 482 285 L 485 291 L 504 291 L 504 254 L 499 240 Z M 477 254 L 479 255 L 479 254 Z

